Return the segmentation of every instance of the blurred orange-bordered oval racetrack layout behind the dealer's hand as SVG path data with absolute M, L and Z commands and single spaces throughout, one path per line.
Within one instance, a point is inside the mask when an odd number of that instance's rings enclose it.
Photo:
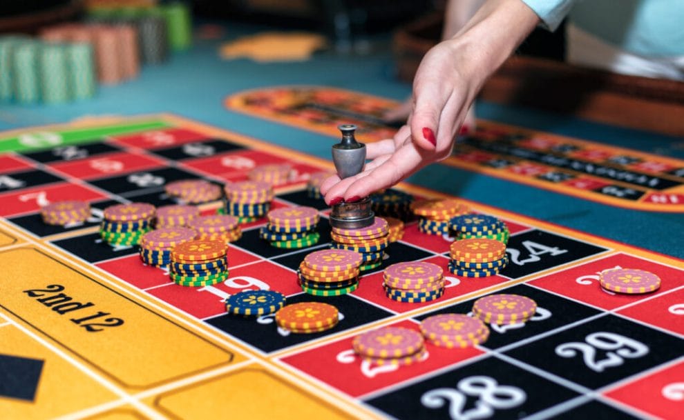
M 231 110 L 338 136 L 352 121 L 362 141 L 395 134 L 381 116 L 395 101 L 328 87 L 250 90 L 225 100 Z M 625 208 L 684 210 L 684 161 L 534 130 L 478 121 L 442 163 Z

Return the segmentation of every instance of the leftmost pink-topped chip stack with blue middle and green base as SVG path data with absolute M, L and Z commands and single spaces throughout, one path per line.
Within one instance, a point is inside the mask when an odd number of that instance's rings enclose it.
M 104 209 L 99 235 L 111 245 L 137 245 L 152 230 L 155 207 L 148 203 L 116 204 Z

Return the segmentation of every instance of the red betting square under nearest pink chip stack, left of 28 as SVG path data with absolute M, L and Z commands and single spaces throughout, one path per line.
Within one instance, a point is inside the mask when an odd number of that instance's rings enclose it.
M 418 331 L 418 324 L 412 321 L 401 321 L 392 326 Z M 359 397 L 482 354 L 477 348 L 450 350 L 426 344 L 428 356 L 419 363 L 374 366 L 357 357 L 352 350 L 352 339 L 348 337 L 310 348 L 281 360 L 352 397 Z

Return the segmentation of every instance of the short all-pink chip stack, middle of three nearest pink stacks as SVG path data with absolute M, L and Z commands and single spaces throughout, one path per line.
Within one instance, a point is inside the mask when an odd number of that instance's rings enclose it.
M 428 343 L 444 348 L 467 348 L 489 338 L 489 328 L 477 317 L 464 314 L 439 314 L 420 323 L 420 332 Z

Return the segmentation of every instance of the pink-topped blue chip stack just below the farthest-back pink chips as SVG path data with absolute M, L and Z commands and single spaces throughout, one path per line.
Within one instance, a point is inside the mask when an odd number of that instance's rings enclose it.
M 271 208 L 274 193 L 270 183 L 241 181 L 229 183 L 226 192 L 225 214 L 238 217 L 240 223 L 256 221 Z

